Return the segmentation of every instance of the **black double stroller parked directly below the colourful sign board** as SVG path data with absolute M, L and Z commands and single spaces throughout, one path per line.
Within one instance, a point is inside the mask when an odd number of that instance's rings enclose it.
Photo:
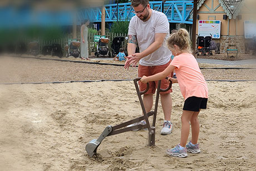
M 212 40 L 211 35 L 210 36 L 198 36 L 197 39 L 197 48 L 196 48 L 196 54 L 199 56 L 200 53 L 201 55 L 213 55 L 211 50 L 216 49 L 216 43 L 214 40 Z

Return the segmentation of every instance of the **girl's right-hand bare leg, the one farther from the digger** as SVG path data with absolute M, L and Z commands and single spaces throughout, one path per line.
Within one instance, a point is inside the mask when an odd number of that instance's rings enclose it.
M 191 120 L 190 120 L 191 132 L 192 132 L 192 138 L 191 138 L 191 143 L 192 144 L 197 144 L 198 143 L 198 137 L 199 137 L 198 115 L 199 115 L 199 112 L 194 112 L 192 117 L 191 117 Z

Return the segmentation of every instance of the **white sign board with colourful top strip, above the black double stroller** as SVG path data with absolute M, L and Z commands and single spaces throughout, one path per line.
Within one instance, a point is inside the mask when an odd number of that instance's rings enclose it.
M 198 35 L 212 36 L 213 39 L 220 39 L 220 20 L 199 20 Z

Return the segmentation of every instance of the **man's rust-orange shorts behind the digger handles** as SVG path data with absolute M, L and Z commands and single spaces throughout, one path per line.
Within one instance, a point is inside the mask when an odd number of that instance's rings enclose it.
M 143 66 L 143 65 L 139 65 L 138 68 L 138 72 L 139 72 L 139 77 L 142 76 L 150 76 L 150 75 L 154 75 L 157 74 L 161 71 L 164 71 L 171 63 L 171 60 L 169 61 L 169 63 L 164 64 L 164 65 L 159 65 L 159 66 Z M 171 73 L 170 75 L 168 75 L 168 77 L 172 77 L 173 73 Z M 145 94 L 154 94 L 156 91 L 158 85 L 158 81 L 150 81 L 149 82 L 149 91 L 147 91 Z M 161 81 L 161 89 L 167 89 L 170 85 L 170 82 L 166 79 L 163 79 Z M 147 85 L 140 82 L 139 81 L 139 86 L 140 86 L 140 91 L 144 91 L 146 90 Z M 165 91 L 165 92 L 160 92 L 160 94 L 168 94 L 170 92 L 173 92 L 172 89 Z

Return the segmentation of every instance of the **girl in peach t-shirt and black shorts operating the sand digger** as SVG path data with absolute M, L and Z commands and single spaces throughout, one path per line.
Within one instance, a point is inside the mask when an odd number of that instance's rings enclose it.
M 189 33 L 185 29 L 170 35 L 167 40 L 168 48 L 173 52 L 175 58 L 168 68 L 163 72 L 152 76 L 143 76 L 143 83 L 164 79 L 175 70 L 177 79 L 169 78 L 173 83 L 179 83 L 181 94 L 185 102 L 181 116 L 181 138 L 180 144 L 173 149 L 167 149 L 167 154 L 175 157 L 187 157 L 187 151 L 200 153 L 199 121 L 198 115 L 201 108 L 206 108 L 208 100 L 208 87 L 201 74 L 195 57 L 191 54 Z M 189 137 L 189 122 L 191 123 L 192 138 L 186 144 Z

